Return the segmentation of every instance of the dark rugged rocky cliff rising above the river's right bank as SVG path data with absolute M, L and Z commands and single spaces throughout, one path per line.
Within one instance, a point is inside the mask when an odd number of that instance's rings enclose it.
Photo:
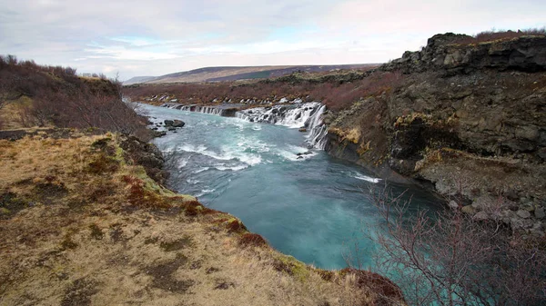
M 430 184 L 475 218 L 544 234 L 546 36 L 435 35 L 379 67 L 402 74 L 329 114 L 329 153 Z M 448 201 L 448 202 L 449 202 Z

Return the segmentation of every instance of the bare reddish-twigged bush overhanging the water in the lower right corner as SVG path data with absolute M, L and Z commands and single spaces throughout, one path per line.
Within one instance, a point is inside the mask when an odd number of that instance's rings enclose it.
M 479 222 L 460 210 L 409 216 L 408 202 L 370 192 L 382 226 L 371 237 L 377 271 L 413 305 L 539 305 L 546 302 L 544 242 Z

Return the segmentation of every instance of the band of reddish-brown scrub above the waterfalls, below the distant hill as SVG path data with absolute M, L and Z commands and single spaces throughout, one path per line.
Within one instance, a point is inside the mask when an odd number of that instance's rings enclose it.
M 144 101 L 153 96 L 167 95 L 182 104 L 214 104 L 231 100 L 278 102 L 282 98 L 321 101 L 331 110 L 340 110 L 362 98 L 379 95 L 396 88 L 403 76 L 397 72 L 376 74 L 328 74 L 313 77 L 291 74 L 274 80 L 248 84 L 141 84 L 124 88 L 124 94 L 133 100 Z M 156 100 L 157 101 L 157 100 Z M 167 102 L 167 101 L 164 101 Z M 160 102 L 157 102 L 160 104 Z

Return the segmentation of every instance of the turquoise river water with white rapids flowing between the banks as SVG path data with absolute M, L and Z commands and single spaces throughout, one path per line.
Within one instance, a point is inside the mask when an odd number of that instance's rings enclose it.
M 360 263 L 374 264 L 377 246 L 362 237 L 373 235 L 382 220 L 369 201 L 369 190 L 388 182 L 323 151 L 309 150 L 306 133 L 297 128 L 142 108 L 154 123 L 186 123 L 177 133 L 154 141 L 169 159 L 169 187 L 235 215 L 249 231 L 299 261 L 344 268 L 344 254 L 358 241 Z M 404 197 L 412 197 L 411 210 L 435 207 L 435 198 L 415 186 L 389 187 L 394 194 L 405 191 Z

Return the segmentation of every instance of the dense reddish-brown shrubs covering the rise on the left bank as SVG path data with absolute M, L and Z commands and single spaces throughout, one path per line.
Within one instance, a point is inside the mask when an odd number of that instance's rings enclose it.
M 0 123 L 12 127 L 100 128 L 143 135 L 146 120 L 122 102 L 120 89 L 120 83 L 104 75 L 82 78 L 70 67 L 0 56 Z

